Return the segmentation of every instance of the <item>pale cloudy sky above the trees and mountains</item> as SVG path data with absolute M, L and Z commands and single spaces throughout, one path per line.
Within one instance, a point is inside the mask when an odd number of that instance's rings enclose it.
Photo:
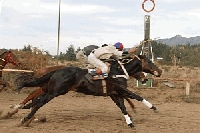
M 31 45 L 57 53 L 59 0 L 0 0 L 0 48 Z M 150 38 L 200 35 L 200 0 L 154 0 L 151 13 L 143 0 L 61 0 L 59 52 L 70 45 L 122 42 L 130 48 L 144 39 L 144 16 L 150 15 Z M 145 7 L 150 9 L 147 1 Z

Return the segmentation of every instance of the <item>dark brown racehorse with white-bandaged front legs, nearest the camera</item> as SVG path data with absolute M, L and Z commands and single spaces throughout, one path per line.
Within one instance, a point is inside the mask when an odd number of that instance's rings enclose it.
M 151 60 L 142 55 L 129 56 L 120 60 L 110 60 L 109 63 L 111 64 L 110 72 L 108 74 L 108 78 L 105 79 L 107 88 L 106 94 L 107 96 L 110 96 L 116 105 L 121 109 L 127 125 L 134 127 L 124 105 L 125 97 L 141 101 L 153 110 L 156 110 L 156 107 L 141 96 L 128 90 L 127 79 L 125 76 L 133 76 L 135 73 L 141 71 L 151 73 L 155 76 L 161 76 L 162 71 L 155 66 Z M 21 90 L 24 86 L 42 86 L 45 89 L 45 93 L 41 94 L 32 102 L 31 107 L 34 106 L 34 109 L 22 119 L 21 124 L 31 121 L 34 114 L 40 107 L 48 103 L 54 97 L 64 95 L 68 93 L 68 91 L 76 91 L 86 95 L 104 96 L 102 81 L 95 80 L 94 84 L 91 84 L 85 78 L 87 73 L 87 69 L 81 69 L 79 67 L 66 67 L 47 73 L 31 82 L 22 84 L 18 90 Z M 122 75 L 124 76 L 118 77 Z

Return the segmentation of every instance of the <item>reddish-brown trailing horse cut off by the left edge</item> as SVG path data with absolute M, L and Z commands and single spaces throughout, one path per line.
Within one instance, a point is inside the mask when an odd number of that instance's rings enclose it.
M 0 55 L 0 78 L 2 77 L 2 69 L 4 69 L 7 63 L 12 63 L 15 66 L 20 65 L 18 58 L 11 51 L 3 52 Z M 4 87 L 6 87 L 7 82 L 0 80 L 0 85 L 3 85 L 3 87 L 0 89 L 1 92 Z

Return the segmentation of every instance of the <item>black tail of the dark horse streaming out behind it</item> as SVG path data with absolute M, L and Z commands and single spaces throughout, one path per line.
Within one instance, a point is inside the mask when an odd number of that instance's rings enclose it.
M 20 91 L 23 87 L 41 87 L 43 84 L 49 81 L 55 71 L 56 70 L 51 71 L 40 78 L 33 78 L 31 81 L 20 82 L 16 90 Z

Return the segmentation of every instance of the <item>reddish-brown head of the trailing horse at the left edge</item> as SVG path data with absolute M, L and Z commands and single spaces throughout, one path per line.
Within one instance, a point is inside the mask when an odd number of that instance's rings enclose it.
M 11 63 L 15 66 L 20 65 L 20 61 L 18 58 L 11 52 L 11 51 L 5 51 L 1 54 L 0 59 L 6 63 Z

